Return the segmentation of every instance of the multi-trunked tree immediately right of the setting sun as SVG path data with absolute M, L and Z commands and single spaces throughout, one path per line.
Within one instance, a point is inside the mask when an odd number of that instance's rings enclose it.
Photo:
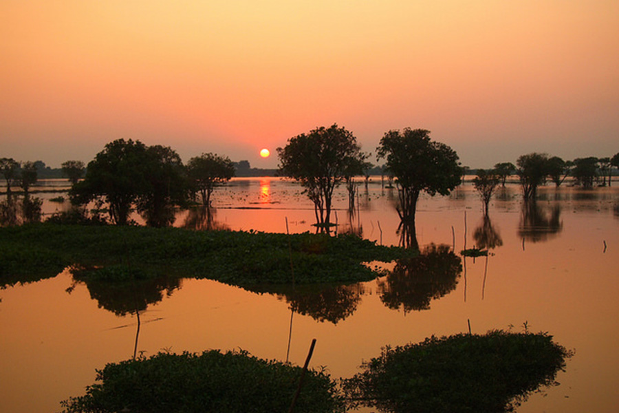
M 333 191 L 349 174 L 351 162 L 361 156 L 355 136 L 336 124 L 318 127 L 288 139 L 285 147 L 277 148 L 277 155 L 279 173 L 301 182 L 314 203 L 316 224 L 328 230 Z

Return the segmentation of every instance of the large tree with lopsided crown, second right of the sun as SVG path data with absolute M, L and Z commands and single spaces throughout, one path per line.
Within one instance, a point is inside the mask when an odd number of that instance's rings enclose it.
M 421 191 L 429 195 L 448 195 L 462 176 L 458 156 L 441 142 L 430 140 L 430 131 L 409 129 L 389 131 L 380 140 L 378 158 L 386 159 L 386 167 L 398 185 L 400 220 L 415 229 L 415 211 Z

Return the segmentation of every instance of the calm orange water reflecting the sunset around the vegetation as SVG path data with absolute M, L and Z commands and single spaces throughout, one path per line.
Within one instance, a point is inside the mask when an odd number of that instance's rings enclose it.
M 351 218 L 341 189 L 340 231 L 352 228 L 371 240 L 398 244 L 392 195 L 380 179 L 367 193 L 361 186 L 358 215 Z M 217 210 L 210 222 L 182 213 L 176 225 L 285 232 L 287 220 L 291 232 L 312 230 L 312 206 L 296 184 L 238 178 L 214 196 Z M 316 338 L 312 366 L 327 366 L 332 377 L 351 377 L 382 346 L 466 332 L 470 321 L 477 333 L 510 326 L 519 331 L 526 323 L 576 350 L 567 371 L 558 374 L 561 385 L 532 395 L 518 412 L 615 412 L 618 206 L 619 182 L 593 191 L 545 187 L 536 207 L 525 210 L 519 187 L 508 185 L 492 200 L 490 222 L 484 222 L 479 197 L 468 184 L 448 197 L 424 196 L 417 208 L 422 249 L 432 243 L 455 244 L 457 252 L 465 243 L 466 248 L 494 245 L 488 259 L 466 258 L 453 285 L 425 300 L 413 295 L 410 301 L 393 301 L 387 279 L 307 295 L 183 279 L 163 291 L 153 287 L 152 304 L 140 312 L 138 335 L 135 313 L 119 310 L 122 305 L 109 293 L 76 284 L 69 272 L 6 288 L 0 290 L 0 411 L 61 410 L 59 401 L 94 383 L 96 368 L 133 357 L 136 337 L 137 351 L 146 355 L 243 348 L 298 365 Z M 49 201 L 44 207 L 63 208 Z M 316 306 L 312 297 L 339 305 Z

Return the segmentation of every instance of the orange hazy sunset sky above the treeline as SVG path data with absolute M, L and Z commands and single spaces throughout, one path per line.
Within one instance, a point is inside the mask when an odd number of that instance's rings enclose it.
M 0 158 L 124 138 L 273 168 L 334 123 L 372 153 L 428 129 L 473 168 L 613 156 L 619 1 L 0 1 Z

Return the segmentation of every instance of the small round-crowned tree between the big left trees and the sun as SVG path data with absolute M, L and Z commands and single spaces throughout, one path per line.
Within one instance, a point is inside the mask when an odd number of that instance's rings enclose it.
M 187 173 L 195 191 L 199 191 L 202 195 L 202 204 L 210 207 L 210 195 L 213 189 L 235 176 L 235 164 L 227 156 L 202 153 L 202 156 L 189 160 Z

